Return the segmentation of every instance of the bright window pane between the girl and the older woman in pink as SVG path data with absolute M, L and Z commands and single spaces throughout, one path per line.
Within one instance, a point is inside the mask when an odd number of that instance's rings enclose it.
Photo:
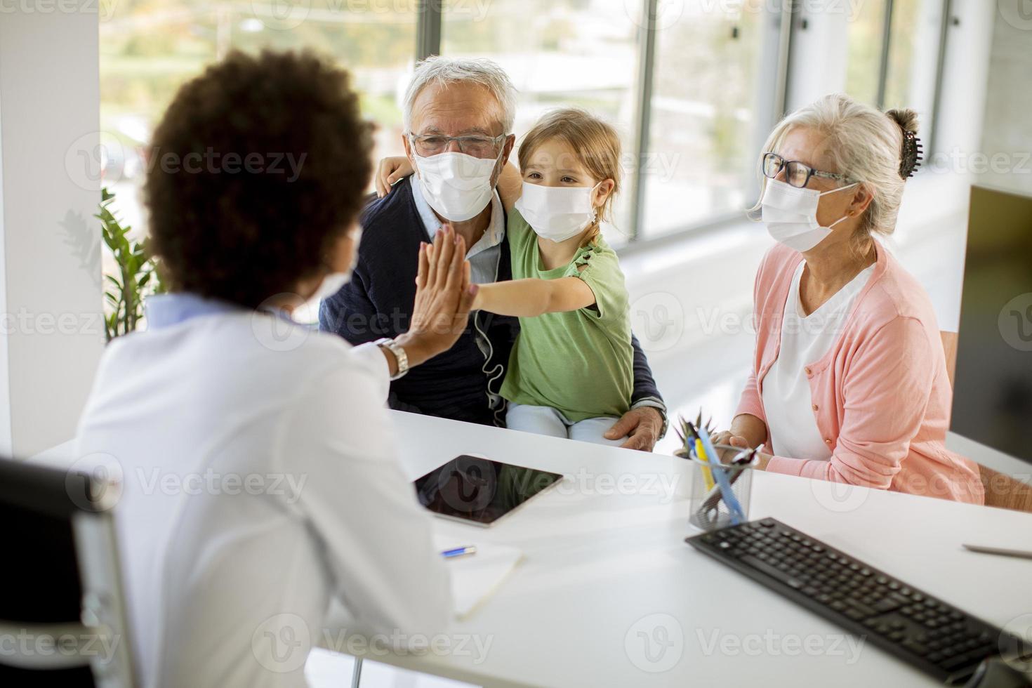
M 764 5 L 713 11 L 721 5 L 685 2 L 677 21 L 659 15 L 639 238 L 740 216 L 751 204 L 757 124 L 766 135 L 772 109 L 760 88 L 770 73 L 761 59 L 770 39 Z

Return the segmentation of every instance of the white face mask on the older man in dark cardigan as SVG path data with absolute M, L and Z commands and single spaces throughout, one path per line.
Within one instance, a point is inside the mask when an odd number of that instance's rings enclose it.
M 474 158 L 464 153 L 416 156 L 423 198 L 445 220 L 462 222 L 477 217 L 494 195 L 491 176 L 497 158 Z

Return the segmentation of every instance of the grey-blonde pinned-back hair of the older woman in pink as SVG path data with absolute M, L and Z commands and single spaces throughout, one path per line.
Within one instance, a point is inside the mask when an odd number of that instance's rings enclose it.
M 845 94 L 834 93 L 781 120 L 764 143 L 763 153 L 777 152 L 788 132 L 799 127 L 825 136 L 824 153 L 832 169 L 824 171 L 857 179 L 874 196 L 861 219 L 858 238 L 892 234 L 903 198 L 903 130 L 916 132 L 917 116 L 912 110 L 880 112 Z M 762 171 L 760 176 L 763 198 L 767 177 Z M 757 202 L 752 209 L 759 206 Z

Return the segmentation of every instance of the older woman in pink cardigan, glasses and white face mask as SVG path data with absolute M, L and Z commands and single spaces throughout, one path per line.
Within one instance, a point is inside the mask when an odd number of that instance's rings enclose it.
M 916 116 L 830 95 L 777 125 L 762 214 L 752 372 L 730 432 L 779 473 L 981 503 L 944 446 L 950 386 L 931 301 L 876 240 L 917 164 Z

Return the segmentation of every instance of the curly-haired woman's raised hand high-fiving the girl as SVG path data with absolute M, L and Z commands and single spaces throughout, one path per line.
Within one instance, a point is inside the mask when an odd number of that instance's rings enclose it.
M 432 244 L 419 247 L 416 302 L 409 331 L 395 342 L 405 348 L 411 366 L 454 346 L 465 330 L 477 286 L 470 284 L 465 239 L 445 225 Z

